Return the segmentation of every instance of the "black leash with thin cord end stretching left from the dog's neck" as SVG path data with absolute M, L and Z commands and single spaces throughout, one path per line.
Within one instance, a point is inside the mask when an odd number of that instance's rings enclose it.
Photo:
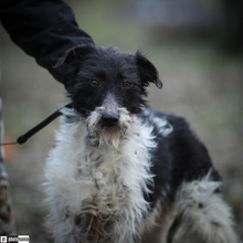
M 50 115 L 49 117 L 46 117 L 43 122 L 41 122 L 40 124 L 38 124 L 35 127 L 33 127 L 32 129 L 30 129 L 29 131 L 27 131 L 25 134 L 21 135 L 17 141 L 11 141 L 11 142 L 3 142 L 0 144 L 0 146 L 6 146 L 6 145 L 22 145 L 24 144 L 29 138 L 31 138 L 33 135 L 35 135 L 38 131 L 42 130 L 44 127 L 46 127 L 50 123 L 52 123 L 54 119 L 56 119 L 57 117 L 62 116 L 62 109 L 63 108 L 73 108 L 73 103 L 70 103 L 65 106 L 63 106 L 62 108 L 57 109 L 56 112 L 54 112 L 52 115 Z

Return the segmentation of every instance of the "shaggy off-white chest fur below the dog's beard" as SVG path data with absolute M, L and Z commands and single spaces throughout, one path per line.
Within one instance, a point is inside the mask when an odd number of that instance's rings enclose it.
M 45 167 L 49 224 L 59 242 L 82 232 L 82 237 L 131 242 L 149 208 L 144 193 L 152 181 L 149 150 L 155 146 L 151 128 L 139 123 L 131 124 L 117 150 L 91 142 L 81 122 L 63 122 Z

